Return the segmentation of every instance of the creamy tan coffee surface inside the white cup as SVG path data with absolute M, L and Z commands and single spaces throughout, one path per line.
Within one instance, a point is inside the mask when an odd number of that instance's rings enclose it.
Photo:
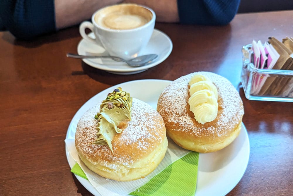
M 147 24 L 152 17 L 151 11 L 144 7 L 136 4 L 120 4 L 98 11 L 95 22 L 104 28 L 127 30 Z

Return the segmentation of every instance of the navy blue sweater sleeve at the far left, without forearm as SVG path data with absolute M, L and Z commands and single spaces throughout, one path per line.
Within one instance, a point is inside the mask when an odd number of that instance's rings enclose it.
M 32 37 L 56 31 L 54 0 L 1 0 L 0 27 L 15 37 Z

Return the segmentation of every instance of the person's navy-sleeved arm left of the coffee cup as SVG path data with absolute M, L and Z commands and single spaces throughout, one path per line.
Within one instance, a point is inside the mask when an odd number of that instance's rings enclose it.
M 93 12 L 122 0 L 2 0 L 0 27 L 15 37 L 31 39 L 38 35 L 91 19 Z

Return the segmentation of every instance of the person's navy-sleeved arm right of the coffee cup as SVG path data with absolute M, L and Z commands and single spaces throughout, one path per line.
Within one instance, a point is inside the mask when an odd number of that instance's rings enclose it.
M 159 22 L 225 25 L 238 11 L 240 0 L 125 0 L 152 8 Z

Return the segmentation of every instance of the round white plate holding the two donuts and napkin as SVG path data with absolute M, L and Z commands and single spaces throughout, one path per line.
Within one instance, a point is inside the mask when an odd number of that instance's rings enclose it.
M 134 80 L 103 90 L 89 99 L 76 112 L 69 124 L 66 139 L 74 138 L 76 125 L 84 112 L 104 99 L 108 92 L 113 91 L 113 88 L 122 87 L 127 92 L 130 92 L 132 97 L 147 102 L 156 109 L 159 95 L 170 83 L 171 81 L 169 80 Z M 72 168 L 75 161 L 67 149 L 66 156 Z M 248 159 L 249 140 L 247 130 L 242 123 L 239 136 L 229 146 L 213 153 L 200 153 L 195 196 L 226 195 L 242 178 L 248 164 Z M 76 178 L 93 195 L 100 195 L 88 180 L 77 175 Z

